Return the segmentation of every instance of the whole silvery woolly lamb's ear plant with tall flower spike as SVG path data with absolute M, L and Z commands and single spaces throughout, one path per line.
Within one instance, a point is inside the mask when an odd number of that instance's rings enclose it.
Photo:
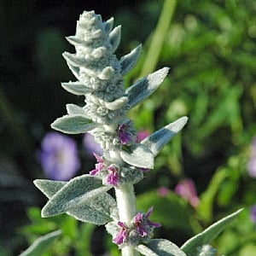
M 65 52 L 63 56 L 77 81 L 61 85 L 74 95 L 84 96 L 85 104 L 67 104 L 67 114 L 51 127 L 68 134 L 90 132 L 104 153 L 94 154 L 97 164 L 89 174 L 68 182 L 34 181 L 49 198 L 42 217 L 67 213 L 82 222 L 105 225 L 123 256 L 216 255 L 209 243 L 240 211 L 177 247 L 172 241 L 153 238 L 154 229 L 160 227 L 149 220 L 153 207 L 148 212 L 136 208 L 134 184 L 154 168 L 154 157 L 188 118 L 181 117 L 137 143 L 137 130 L 127 113 L 158 88 L 169 68 L 148 74 L 125 90 L 123 78 L 136 65 L 142 46 L 118 59 L 114 51 L 120 32 L 120 26 L 113 28 L 113 18 L 103 22 L 101 15 L 84 11 L 75 35 L 67 38 L 76 53 Z M 114 189 L 114 197 L 108 193 L 110 189 Z

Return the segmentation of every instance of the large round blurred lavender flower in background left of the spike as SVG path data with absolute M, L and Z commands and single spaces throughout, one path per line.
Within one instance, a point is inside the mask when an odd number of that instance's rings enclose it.
M 38 158 L 46 176 L 53 180 L 66 181 L 73 177 L 80 167 L 75 141 L 55 131 L 44 137 Z

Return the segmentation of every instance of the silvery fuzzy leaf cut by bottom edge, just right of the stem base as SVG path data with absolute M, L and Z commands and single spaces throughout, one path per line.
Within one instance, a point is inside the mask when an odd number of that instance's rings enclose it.
M 146 256 L 186 256 L 176 244 L 166 239 L 152 239 L 146 245 L 138 245 L 136 250 Z

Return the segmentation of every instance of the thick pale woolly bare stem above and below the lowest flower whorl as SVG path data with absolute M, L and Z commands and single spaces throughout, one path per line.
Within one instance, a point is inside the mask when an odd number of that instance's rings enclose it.
M 119 220 L 129 227 L 131 224 L 131 219 L 136 214 L 136 197 L 134 194 L 133 185 L 126 183 L 125 185 L 115 189 L 115 195 L 119 209 Z M 134 247 L 130 245 L 122 247 L 122 256 L 137 255 L 138 253 L 134 250 Z

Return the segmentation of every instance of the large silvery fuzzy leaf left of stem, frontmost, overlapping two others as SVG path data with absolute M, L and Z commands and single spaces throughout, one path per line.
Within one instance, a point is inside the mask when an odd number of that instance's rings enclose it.
M 96 196 L 106 193 L 110 187 L 102 186 L 102 180 L 84 174 L 74 177 L 53 195 L 42 209 L 42 217 L 50 217 L 82 204 L 94 201 Z

